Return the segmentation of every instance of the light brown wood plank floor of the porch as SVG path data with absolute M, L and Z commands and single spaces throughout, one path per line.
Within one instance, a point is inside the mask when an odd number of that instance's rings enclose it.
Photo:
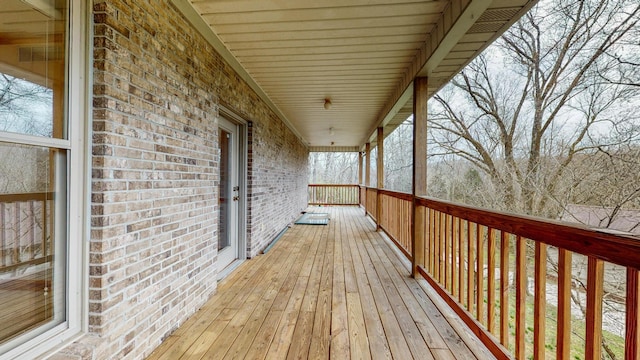
M 149 359 L 491 358 L 362 209 L 309 211 L 329 225 L 245 261 Z

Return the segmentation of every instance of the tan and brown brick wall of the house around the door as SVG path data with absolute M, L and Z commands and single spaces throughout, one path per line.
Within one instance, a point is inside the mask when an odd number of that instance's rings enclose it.
M 247 256 L 306 207 L 307 149 L 167 0 L 94 0 L 89 333 L 148 355 L 216 289 L 216 101 L 250 120 Z

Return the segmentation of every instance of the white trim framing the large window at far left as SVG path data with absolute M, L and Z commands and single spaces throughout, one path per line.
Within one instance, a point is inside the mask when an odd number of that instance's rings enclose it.
M 66 314 L 67 319 L 45 333 L 24 341 L 17 337 L 0 347 L 0 360 L 35 359 L 51 355 L 77 339 L 88 328 L 88 239 L 90 214 L 90 100 L 91 100 L 91 5 L 84 0 L 69 1 L 70 32 L 67 69 L 69 139 L 37 138 L 0 134 L 0 140 L 71 149 L 67 158 L 68 203 L 66 224 Z M 5 351 L 3 353 L 3 351 Z

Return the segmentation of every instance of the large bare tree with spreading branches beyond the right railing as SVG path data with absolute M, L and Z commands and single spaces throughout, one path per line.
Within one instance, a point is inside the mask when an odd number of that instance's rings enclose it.
M 494 208 L 557 217 L 579 155 L 640 138 L 639 14 L 634 1 L 541 3 L 434 97 L 431 155 L 482 171 Z

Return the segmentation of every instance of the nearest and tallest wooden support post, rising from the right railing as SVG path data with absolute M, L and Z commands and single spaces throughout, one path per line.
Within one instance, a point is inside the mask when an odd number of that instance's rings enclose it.
M 413 80 L 413 204 L 411 207 L 411 274 L 415 277 L 418 266 L 424 266 L 425 232 L 416 227 L 416 196 L 427 193 L 427 78 Z M 422 213 L 421 213 L 422 214 Z M 424 216 L 424 215 L 423 215 Z M 421 223 L 424 219 L 421 219 Z M 432 229 L 427 229 L 427 232 Z

